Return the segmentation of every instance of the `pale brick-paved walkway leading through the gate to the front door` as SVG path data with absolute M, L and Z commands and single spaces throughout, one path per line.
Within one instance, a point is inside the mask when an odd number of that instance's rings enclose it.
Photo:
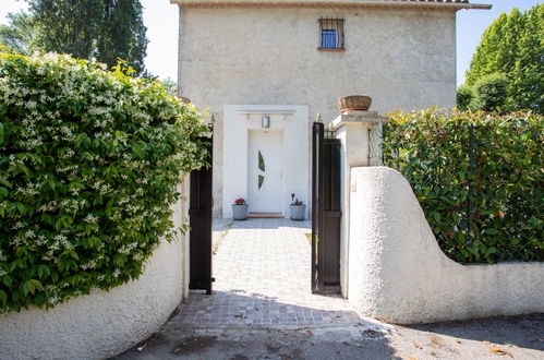
M 221 231 L 220 226 L 214 227 Z M 214 293 L 191 293 L 176 323 L 344 325 L 361 317 L 339 296 L 310 290 L 310 221 L 235 221 L 213 259 Z

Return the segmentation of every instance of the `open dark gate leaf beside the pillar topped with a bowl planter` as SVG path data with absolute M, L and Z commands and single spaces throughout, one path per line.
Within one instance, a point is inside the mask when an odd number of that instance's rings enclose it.
M 340 140 L 312 129 L 312 291 L 340 291 Z

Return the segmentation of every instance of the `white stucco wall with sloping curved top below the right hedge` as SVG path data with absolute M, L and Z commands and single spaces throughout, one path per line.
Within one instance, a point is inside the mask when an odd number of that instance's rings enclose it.
M 349 300 L 408 324 L 544 312 L 544 263 L 461 265 L 439 249 L 408 181 L 351 170 Z

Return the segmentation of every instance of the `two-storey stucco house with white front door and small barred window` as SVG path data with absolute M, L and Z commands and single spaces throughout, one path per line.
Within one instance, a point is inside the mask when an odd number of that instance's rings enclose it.
M 179 95 L 216 119 L 214 215 L 238 197 L 289 216 L 310 201 L 310 128 L 337 97 L 372 110 L 456 105 L 460 0 L 170 0 L 179 5 Z

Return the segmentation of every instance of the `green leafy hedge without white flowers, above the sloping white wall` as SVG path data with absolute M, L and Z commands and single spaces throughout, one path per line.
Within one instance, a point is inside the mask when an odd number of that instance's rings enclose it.
M 544 261 L 543 120 L 521 112 L 391 115 L 384 163 L 411 183 L 450 259 Z

